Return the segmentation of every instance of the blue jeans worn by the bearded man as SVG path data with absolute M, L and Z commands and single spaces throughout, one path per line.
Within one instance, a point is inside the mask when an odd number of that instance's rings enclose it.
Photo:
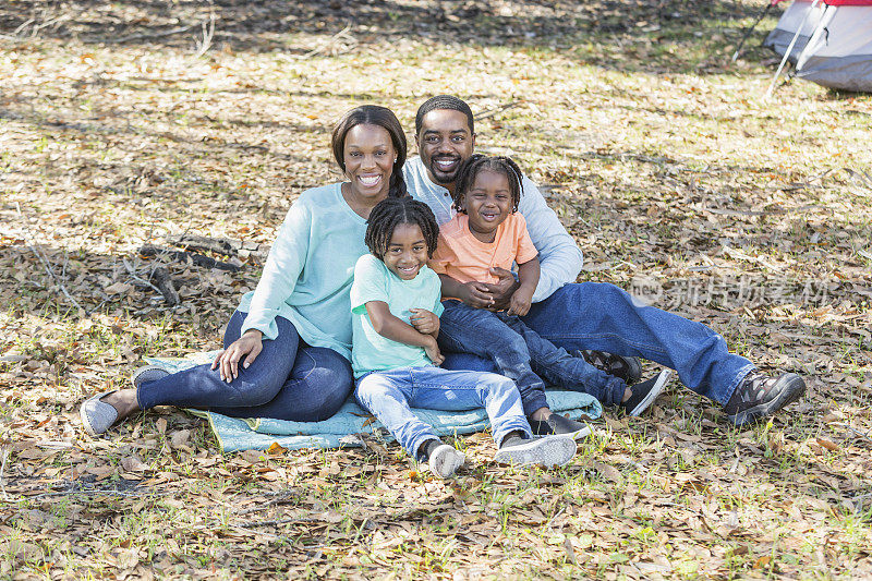
M 533 303 L 521 320 L 568 351 L 593 349 L 659 363 L 678 372 L 688 388 L 722 406 L 754 368 L 705 325 L 642 305 L 614 285 L 565 285 Z M 446 368 L 494 370 L 492 362 L 469 353 L 445 355 Z

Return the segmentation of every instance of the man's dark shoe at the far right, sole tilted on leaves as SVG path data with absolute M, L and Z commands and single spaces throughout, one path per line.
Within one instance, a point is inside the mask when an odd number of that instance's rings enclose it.
M 756 422 L 795 402 L 806 392 L 806 382 L 795 373 L 780 377 L 763 375 L 752 370 L 724 406 L 724 413 L 734 424 L 741 426 Z

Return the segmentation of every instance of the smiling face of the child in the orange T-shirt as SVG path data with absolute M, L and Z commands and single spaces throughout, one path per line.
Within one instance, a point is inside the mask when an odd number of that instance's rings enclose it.
M 493 242 L 497 227 L 512 213 L 509 178 L 497 171 L 479 171 L 461 205 L 470 217 L 472 235 L 482 242 Z

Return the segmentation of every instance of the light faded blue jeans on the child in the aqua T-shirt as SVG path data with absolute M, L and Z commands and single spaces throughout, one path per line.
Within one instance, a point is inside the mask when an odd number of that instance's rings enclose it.
M 354 397 L 412 457 L 439 436 L 410 408 L 461 411 L 484 408 L 497 446 L 509 432 L 530 436 L 530 424 L 514 383 L 495 373 L 400 367 L 373 372 L 356 380 Z

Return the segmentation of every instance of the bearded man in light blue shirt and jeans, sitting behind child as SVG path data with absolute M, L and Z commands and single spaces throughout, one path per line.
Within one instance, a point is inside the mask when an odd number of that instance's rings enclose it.
M 415 143 L 420 157 L 405 164 L 405 183 L 409 193 L 426 203 L 441 225 L 453 216 L 450 192 L 461 161 L 475 147 L 469 105 L 450 95 L 425 101 L 415 116 Z M 533 306 L 522 320 L 543 338 L 570 352 L 595 350 L 596 363 L 610 365 L 613 372 L 626 374 L 633 366 L 630 358 L 635 356 L 676 370 L 688 388 L 722 404 L 736 425 L 772 414 L 804 394 L 806 383 L 799 375 L 776 378 L 762 374 L 749 360 L 730 353 L 724 338 L 705 325 L 639 304 L 614 285 L 576 283 L 581 251 L 526 177 L 519 211 L 542 264 Z M 518 283 L 507 270 L 494 269 L 493 274 L 499 282 L 486 286 L 489 296 L 483 299 L 505 308 Z M 446 355 L 444 366 L 449 368 L 493 370 L 489 362 L 470 354 Z M 524 411 L 538 433 L 577 429 L 547 408 Z

